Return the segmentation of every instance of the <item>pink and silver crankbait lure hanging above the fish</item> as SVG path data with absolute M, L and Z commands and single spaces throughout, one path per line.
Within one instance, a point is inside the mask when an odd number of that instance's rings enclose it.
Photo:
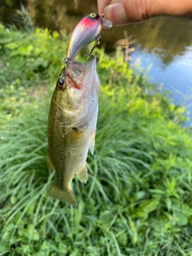
M 112 23 L 98 14 L 89 14 L 82 18 L 70 36 L 66 58 L 73 60 L 82 48 L 98 38 L 102 27 L 111 28 Z

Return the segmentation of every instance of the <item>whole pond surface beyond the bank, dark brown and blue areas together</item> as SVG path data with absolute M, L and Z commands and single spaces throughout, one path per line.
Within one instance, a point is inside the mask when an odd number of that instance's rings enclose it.
M 97 1 L 93 0 L 22 0 L 36 26 L 50 30 L 71 32 L 78 21 L 91 12 L 97 12 Z M 0 21 L 10 23 L 10 15 L 20 9 L 17 0 L 0 0 Z M 123 31 L 137 40 L 135 51 L 130 55 L 130 65 L 139 58 L 141 66 L 150 66 L 147 78 L 169 90 L 176 105 L 186 106 L 192 123 L 192 22 L 181 18 L 155 18 L 129 26 L 102 30 L 101 43 L 106 51 L 114 50 Z

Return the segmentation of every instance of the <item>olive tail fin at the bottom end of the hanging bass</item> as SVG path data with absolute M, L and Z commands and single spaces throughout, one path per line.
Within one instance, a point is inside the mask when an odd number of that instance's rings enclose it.
M 72 206 L 78 206 L 73 190 L 60 190 L 57 186 L 53 186 L 49 194 L 52 198 L 62 199 Z

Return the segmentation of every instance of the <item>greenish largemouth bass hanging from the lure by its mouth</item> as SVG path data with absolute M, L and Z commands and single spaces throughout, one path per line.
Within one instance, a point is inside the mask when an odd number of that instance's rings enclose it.
M 48 117 L 47 166 L 56 172 L 50 196 L 77 206 L 71 182 L 77 175 L 86 183 L 88 150 L 94 154 L 98 118 L 96 58 L 86 64 L 72 60 L 64 67 L 55 86 Z

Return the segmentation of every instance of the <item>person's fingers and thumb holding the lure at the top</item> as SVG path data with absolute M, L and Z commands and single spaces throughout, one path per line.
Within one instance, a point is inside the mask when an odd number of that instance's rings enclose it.
M 98 14 L 114 26 L 158 16 L 192 18 L 192 0 L 98 0 Z

